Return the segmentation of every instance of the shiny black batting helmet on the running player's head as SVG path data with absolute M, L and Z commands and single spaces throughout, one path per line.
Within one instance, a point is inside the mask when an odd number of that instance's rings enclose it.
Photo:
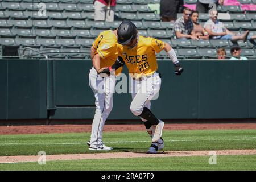
M 133 22 L 124 20 L 117 29 L 117 42 L 122 45 L 129 44 L 137 36 L 137 27 Z

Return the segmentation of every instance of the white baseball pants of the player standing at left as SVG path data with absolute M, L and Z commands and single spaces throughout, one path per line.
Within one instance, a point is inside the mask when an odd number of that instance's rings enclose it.
M 115 76 L 102 78 L 94 68 L 90 69 L 89 85 L 95 97 L 96 111 L 90 135 L 91 144 L 102 144 L 102 131 L 106 119 L 113 108 L 113 93 L 115 89 Z

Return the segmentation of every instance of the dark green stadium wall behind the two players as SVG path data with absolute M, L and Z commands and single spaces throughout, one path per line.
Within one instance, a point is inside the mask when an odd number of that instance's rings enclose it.
M 162 119 L 256 118 L 256 60 L 158 61 L 162 86 L 152 111 Z M 0 119 L 92 119 L 90 60 L 0 60 Z M 127 73 L 125 68 L 124 73 Z M 118 82 L 117 82 L 118 83 Z M 138 119 L 130 94 L 114 94 L 109 119 Z

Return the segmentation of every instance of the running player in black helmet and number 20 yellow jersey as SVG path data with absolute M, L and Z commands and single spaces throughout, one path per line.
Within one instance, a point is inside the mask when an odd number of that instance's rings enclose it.
M 102 72 L 110 74 L 109 71 L 112 69 L 118 69 L 126 64 L 129 75 L 133 78 L 131 90 L 134 90 L 134 93 L 132 93 L 133 101 L 130 110 L 134 115 L 141 117 L 152 138 L 148 153 L 154 154 L 164 147 L 162 138 L 164 122 L 156 118 L 150 110 L 150 101 L 158 94 L 161 85 L 155 52 L 166 51 L 175 65 L 176 75 L 181 75 L 183 68 L 170 44 L 154 38 L 137 36 L 137 32 L 137 27 L 128 20 L 120 24 L 117 30 L 118 59 L 112 67 L 104 69 Z

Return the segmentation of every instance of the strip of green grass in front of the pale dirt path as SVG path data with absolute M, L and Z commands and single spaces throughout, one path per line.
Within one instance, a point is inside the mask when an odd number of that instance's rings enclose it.
M 217 164 L 209 164 L 209 156 L 189 156 L 171 158 L 131 158 L 64 160 L 0 164 L 0 170 L 256 170 L 256 155 L 218 155 Z

